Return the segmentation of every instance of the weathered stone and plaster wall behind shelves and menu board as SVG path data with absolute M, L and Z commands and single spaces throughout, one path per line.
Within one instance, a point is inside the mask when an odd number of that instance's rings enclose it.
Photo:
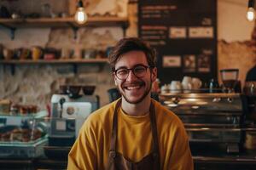
M 191 0 L 192 1 L 192 0 Z M 40 25 L 18 26 L 14 34 L 0 21 L 0 44 L 2 49 L 40 47 L 59 50 L 60 60 L 67 59 L 108 59 L 108 52 L 122 37 L 139 37 L 137 0 L 84 0 L 88 17 L 117 17 L 127 19 L 126 25 L 108 26 L 106 22 L 96 26 L 73 25 L 62 27 Z M 217 62 L 214 73 L 218 83 L 222 69 L 239 69 L 241 88 L 245 85 L 246 74 L 256 64 L 255 22 L 246 19 L 247 0 L 217 0 Z M 46 5 L 45 5 L 46 4 Z M 49 18 L 70 17 L 75 14 L 75 0 L 1 0 L 0 6 L 9 9 L 11 17 L 26 14 L 49 15 Z M 14 14 L 13 14 L 14 13 Z M 108 21 L 107 21 L 108 22 Z M 6 23 L 5 23 L 6 24 Z M 76 37 L 74 37 L 76 36 Z M 172 50 L 172 47 L 169 47 Z M 87 54 L 86 52 L 89 52 Z M 73 53 L 73 56 L 71 56 Z M 44 57 L 43 57 L 44 58 Z M 6 63 L 0 60 L 0 99 L 9 99 L 14 104 L 37 105 L 40 110 L 50 106 L 53 94 L 60 92 L 61 85 L 96 86 L 100 106 L 109 103 L 108 89 L 115 88 L 108 62 L 89 63 Z M 168 75 L 165 75 L 168 77 Z M 186 75 L 183 75 L 186 76 Z M 172 77 L 169 77 L 172 80 Z M 182 81 L 179 77 L 178 81 Z M 200 77 L 199 77 L 200 78 Z M 160 86 L 164 84 L 160 79 Z

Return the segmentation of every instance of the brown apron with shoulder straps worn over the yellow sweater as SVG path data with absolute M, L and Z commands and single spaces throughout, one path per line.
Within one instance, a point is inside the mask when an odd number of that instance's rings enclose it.
M 154 105 L 151 102 L 149 109 L 149 116 L 151 122 L 151 129 L 153 135 L 153 150 L 148 155 L 143 157 L 141 161 L 132 162 L 131 160 L 125 159 L 116 149 L 117 145 L 117 134 L 118 134 L 118 110 L 121 104 L 121 99 L 119 99 L 114 113 L 113 113 L 113 127 L 111 133 L 110 150 L 108 156 L 108 170 L 160 170 L 160 155 L 158 148 L 158 138 L 157 138 L 157 127 L 155 121 Z

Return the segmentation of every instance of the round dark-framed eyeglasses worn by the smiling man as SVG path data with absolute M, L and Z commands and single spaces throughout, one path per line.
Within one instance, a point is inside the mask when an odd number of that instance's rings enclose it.
M 138 78 L 141 78 L 141 77 L 144 77 L 147 73 L 147 69 L 148 68 L 152 68 L 152 66 L 148 66 L 148 65 L 136 65 L 134 66 L 133 68 L 131 69 L 127 69 L 127 68 L 119 68 L 115 71 L 113 71 L 114 75 L 116 77 L 118 77 L 119 80 L 125 80 L 130 71 L 132 71 L 132 73 L 138 77 Z

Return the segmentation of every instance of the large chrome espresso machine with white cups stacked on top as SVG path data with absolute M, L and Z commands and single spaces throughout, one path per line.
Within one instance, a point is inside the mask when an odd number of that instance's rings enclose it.
M 241 94 L 160 94 L 160 102 L 182 120 L 192 153 L 206 153 L 206 149 L 240 151 L 244 116 Z

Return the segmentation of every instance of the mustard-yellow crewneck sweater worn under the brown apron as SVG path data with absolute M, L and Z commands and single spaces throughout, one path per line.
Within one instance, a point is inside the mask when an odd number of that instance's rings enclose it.
M 153 100 L 154 101 L 154 100 Z M 92 113 L 84 122 L 79 137 L 68 155 L 67 169 L 104 170 L 108 167 L 108 150 L 116 101 Z M 188 137 L 183 123 L 172 111 L 154 101 L 163 170 L 193 169 Z M 119 109 L 117 150 L 131 161 L 140 161 L 152 151 L 149 114 L 128 116 Z

